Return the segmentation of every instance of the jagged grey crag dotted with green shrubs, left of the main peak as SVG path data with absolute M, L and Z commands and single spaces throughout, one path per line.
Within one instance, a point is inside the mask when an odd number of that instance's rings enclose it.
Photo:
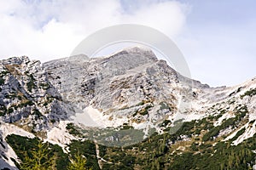
M 49 83 L 39 61 L 27 57 L 2 60 L 0 82 L 3 122 L 27 120 L 22 123 L 38 131 L 48 127 L 50 120 L 67 118 L 61 107 L 61 94 Z

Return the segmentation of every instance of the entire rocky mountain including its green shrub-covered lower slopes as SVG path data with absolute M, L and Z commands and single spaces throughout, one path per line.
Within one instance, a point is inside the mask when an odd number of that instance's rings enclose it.
M 150 49 L 0 61 L 0 167 L 48 144 L 56 169 L 256 168 L 256 78 L 211 88 Z

